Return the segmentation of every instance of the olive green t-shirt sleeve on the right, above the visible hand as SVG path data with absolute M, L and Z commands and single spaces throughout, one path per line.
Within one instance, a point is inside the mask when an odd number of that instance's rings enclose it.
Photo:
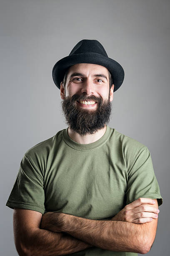
M 150 151 L 145 146 L 136 156 L 130 170 L 126 190 L 126 205 L 134 200 L 145 197 L 158 200 L 158 206 L 162 205 L 163 198 L 156 179 Z

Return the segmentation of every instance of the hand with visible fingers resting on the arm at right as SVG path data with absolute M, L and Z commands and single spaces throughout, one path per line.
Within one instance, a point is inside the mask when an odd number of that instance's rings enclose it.
M 111 220 L 141 224 L 152 221 L 150 218 L 158 218 L 155 216 L 155 214 L 158 215 L 157 207 L 147 204 L 154 204 L 153 199 L 140 197 L 126 205 Z

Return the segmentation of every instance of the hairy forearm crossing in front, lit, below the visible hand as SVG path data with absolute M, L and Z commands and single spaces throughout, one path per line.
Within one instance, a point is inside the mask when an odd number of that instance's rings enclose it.
M 63 231 L 93 246 L 110 250 L 141 253 L 140 225 L 125 221 L 89 220 L 65 215 Z

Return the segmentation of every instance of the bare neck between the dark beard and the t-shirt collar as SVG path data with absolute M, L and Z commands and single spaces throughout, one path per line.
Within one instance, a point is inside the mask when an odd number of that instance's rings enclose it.
M 72 131 L 70 129 L 70 127 L 68 127 L 68 136 L 75 142 L 77 143 L 80 143 L 80 144 L 89 144 L 89 143 L 92 143 L 92 142 L 95 142 L 97 140 L 99 140 L 104 134 L 105 134 L 105 131 L 106 131 L 106 125 L 104 128 L 98 130 L 96 133 L 94 134 L 87 134 L 87 135 L 84 135 L 84 136 L 81 136 L 80 134 Z

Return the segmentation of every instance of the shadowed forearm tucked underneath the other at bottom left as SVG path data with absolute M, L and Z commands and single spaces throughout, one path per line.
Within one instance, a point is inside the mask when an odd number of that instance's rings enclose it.
M 74 253 L 92 247 L 66 233 L 37 229 L 26 238 L 27 256 L 57 256 Z

